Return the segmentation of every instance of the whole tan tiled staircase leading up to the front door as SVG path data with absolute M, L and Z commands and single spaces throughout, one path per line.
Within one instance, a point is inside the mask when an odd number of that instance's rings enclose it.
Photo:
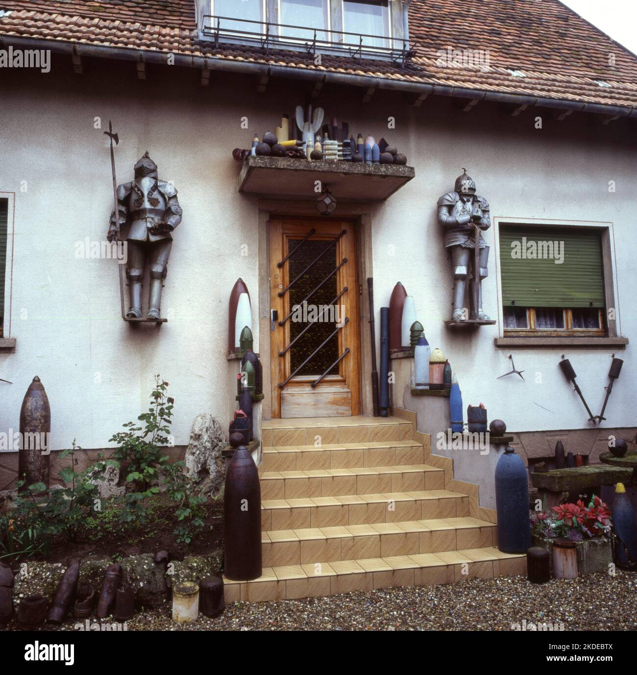
M 225 579 L 226 601 L 526 573 L 524 556 L 495 547 L 477 485 L 453 479 L 413 413 L 392 412 L 263 422 L 263 574 Z

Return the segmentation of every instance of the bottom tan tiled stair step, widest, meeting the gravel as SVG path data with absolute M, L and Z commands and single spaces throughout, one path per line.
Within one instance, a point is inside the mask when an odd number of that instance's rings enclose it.
M 495 547 L 264 567 L 252 581 L 224 576 L 225 601 L 262 602 L 372 591 L 395 586 L 455 583 L 468 578 L 526 574 L 526 556 Z

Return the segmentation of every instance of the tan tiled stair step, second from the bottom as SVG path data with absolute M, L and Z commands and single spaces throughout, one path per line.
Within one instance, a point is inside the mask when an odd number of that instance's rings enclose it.
M 264 567 L 279 567 L 493 545 L 497 529 L 486 520 L 407 520 L 262 532 L 262 560 Z

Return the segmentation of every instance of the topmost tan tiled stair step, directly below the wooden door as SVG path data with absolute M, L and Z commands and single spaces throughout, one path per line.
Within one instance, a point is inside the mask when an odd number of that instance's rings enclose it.
M 324 443 L 369 443 L 412 438 L 412 423 L 399 417 L 301 417 L 265 420 L 264 447 L 323 445 Z

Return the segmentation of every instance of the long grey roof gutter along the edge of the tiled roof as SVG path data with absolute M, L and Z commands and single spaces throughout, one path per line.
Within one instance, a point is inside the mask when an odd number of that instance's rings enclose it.
M 48 49 L 53 53 L 79 55 L 103 59 L 117 59 L 121 61 L 138 61 L 142 63 L 159 63 L 167 65 L 169 53 L 141 49 L 126 49 L 120 47 L 101 47 L 99 45 L 84 45 L 53 40 L 35 40 L 20 36 L 2 35 L 0 45 L 3 49 L 9 45 L 25 49 Z M 510 103 L 512 105 L 534 105 L 559 110 L 572 110 L 582 113 L 595 113 L 610 117 L 637 117 L 636 107 L 617 105 L 603 105 L 601 103 L 583 103 L 580 101 L 566 101 L 545 97 L 524 96 L 523 94 L 507 94 L 505 92 L 469 89 L 441 84 L 427 84 L 426 82 L 406 82 L 391 78 L 374 78 L 347 73 L 334 73 L 325 70 L 310 70 L 304 68 L 290 68 L 285 65 L 268 63 L 253 63 L 251 61 L 232 61 L 219 57 L 192 57 L 185 54 L 170 54 L 174 65 L 186 68 L 207 68 L 231 73 L 252 74 L 258 76 L 292 78 L 308 82 L 326 82 L 343 84 L 345 86 L 360 86 L 365 88 L 388 89 L 412 94 L 437 94 L 461 99 L 478 101 L 494 101 L 496 103 Z

